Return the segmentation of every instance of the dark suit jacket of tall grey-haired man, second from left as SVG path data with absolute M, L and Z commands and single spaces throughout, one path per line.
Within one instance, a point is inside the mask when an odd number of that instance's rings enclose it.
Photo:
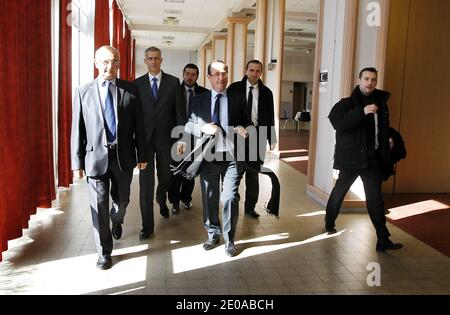
M 172 128 L 184 125 L 186 121 L 186 106 L 180 80 L 162 72 L 157 100 L 153 97 L 148 73 L 134 82 L 142 103 L 147 141 L 154 137 L 159 143 L 171 143 Z

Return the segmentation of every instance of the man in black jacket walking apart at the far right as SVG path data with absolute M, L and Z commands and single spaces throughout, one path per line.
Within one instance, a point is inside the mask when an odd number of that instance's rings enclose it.
M 335 221 L 347 191 L 358 176 L 364 184 L 370 220 L 377 233 L 377 251 L 400 249 L 393 243 L 386 227 L 381 194 L 383 167 L 390 163 L 394 146 L 389 137 L 388 92 L 375 89 L 378 72 L 364 68 L 359 84 L 349 98 L 340 100 L 331 109 L 331 124 L 336 130 L 334 168 L 339 170 L 336 185 L 328 199 L 325 229 L 336 233 Z

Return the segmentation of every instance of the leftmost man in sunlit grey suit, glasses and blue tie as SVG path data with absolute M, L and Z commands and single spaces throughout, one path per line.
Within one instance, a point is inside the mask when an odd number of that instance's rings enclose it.
M 72 116 L 72 170 L 89 183 L 97 267 L 112 266 L 112 237 L 120 239 L 130 200 L 133 168 L 145 169 L 142 107 L 134 85 L 117 79 L 119 51 L 103 46 L 95 52 L 97 79 L 75 91 Z M 109 192 L 112 207 L 109 209 Z M 112 221 L 112 233 L 109 220 Z M 111 237 L 112 236 L 112 237 Z

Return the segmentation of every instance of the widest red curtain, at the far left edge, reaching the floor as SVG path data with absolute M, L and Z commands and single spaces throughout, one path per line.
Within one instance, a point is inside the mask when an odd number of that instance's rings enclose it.
M 0 1 L 0 29 L 1 253 L 55 198 L 51 1 Z

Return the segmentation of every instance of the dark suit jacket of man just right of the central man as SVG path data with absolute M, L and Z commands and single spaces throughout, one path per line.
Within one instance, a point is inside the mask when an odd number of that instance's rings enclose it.
M 267 141 L 270 145 L 277 142 L 275 133 L 275 115 L 273 105 L 272 91 L 264 85 L 264 83 L 258 81 L 259 97 L 258 97 L 258 126 L 270 127 L 267 130 Z M 244 76 L 242 81 L 234 82 L 228 87 L 228 91 L 237 90 L 245 99 L 247 106 L 247 76 Z M 251 118 L 251 117 L 250 117 Z

